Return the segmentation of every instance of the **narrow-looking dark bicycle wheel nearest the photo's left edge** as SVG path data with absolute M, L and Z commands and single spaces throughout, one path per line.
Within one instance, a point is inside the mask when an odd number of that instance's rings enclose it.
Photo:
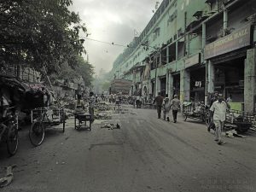
M 8 126 L 6 143 L 9 155 L 16 154 L 19 145 L 18 127 L 16 125 Z

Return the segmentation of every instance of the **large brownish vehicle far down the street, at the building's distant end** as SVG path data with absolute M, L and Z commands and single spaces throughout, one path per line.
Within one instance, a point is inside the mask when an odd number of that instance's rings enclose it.
M 119 94 L 120 92 L 124 95 L 128 95 L 131 89 L 131 80 L 126 79 L 113 79 L 111 82 L 109 93 L 110 94 Z

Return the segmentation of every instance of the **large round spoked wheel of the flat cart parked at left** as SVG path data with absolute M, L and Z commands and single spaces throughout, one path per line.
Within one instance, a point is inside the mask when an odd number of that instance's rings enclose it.
M 35 121 L 29 130 L 29 139 L 33 146 L 38 147 L 44 141 L 44 123 Z

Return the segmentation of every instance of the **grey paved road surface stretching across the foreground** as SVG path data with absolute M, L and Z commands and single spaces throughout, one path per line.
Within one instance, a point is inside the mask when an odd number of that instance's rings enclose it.
M 4 192 L 150 192 L 256 191 L 256 137 L 213 141 L 205 125 L 156 119 L 154 110 L 116 114 L 121 129 L 47 131 L 33 148 L 20 132 L 18 153 L 7 158 L 0 148 L 0 168 L 17 164 L 15 180 Z M 1 189 L 0 189 L 1 191 Z

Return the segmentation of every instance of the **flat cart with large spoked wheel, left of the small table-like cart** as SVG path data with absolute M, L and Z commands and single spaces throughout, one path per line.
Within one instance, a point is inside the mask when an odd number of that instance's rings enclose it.
M 61 125 L 65 131 L 66 115 L 64 108 L 36 108 L 31 112 L 32 125 L 29 138 L 34 146 L 39 146 L 44 141 L 44 131 L 49 126 Z

